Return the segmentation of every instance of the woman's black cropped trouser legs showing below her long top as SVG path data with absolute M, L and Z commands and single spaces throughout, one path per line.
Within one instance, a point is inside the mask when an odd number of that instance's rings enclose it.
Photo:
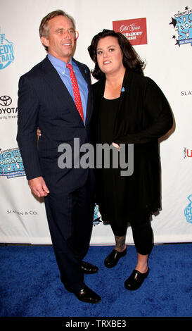
M 139 254 L 147 255 L 151 253 L 153 247 L 153 230 L 151 227 L 150 213 L 148 210 L 134 211 L 129 213 L 129 220 L 132 227 L 134 244 Z M 110 223 L 115 236 L 123 237 L 127 233 L 127 224 L 119 227 L 115 223 Z

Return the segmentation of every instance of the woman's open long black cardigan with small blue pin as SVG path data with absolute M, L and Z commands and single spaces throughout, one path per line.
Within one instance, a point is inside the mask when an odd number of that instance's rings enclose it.
M 94 115 L 92 117 L 93 142 L 99 143 L 100 108 L 105 89 L 105 78 L 96 82 Z M 160 208 L 160 158 L 158 139 L 173 125 L 172 112 L 158 85 L 149 77 L 126 70 L 117 110 L 113 142 L 134 144 L 134 173 L 129 177 L 116 177 L 126 181 L 124 195 L 130 209 Z M 96 170 L 97 187 L 101 176 Z M 115 173 L 114 173 L 115 175 Z

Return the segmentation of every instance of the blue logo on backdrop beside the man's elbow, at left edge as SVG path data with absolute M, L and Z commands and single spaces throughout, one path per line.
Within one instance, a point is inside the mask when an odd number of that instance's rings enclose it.
M 25 176 L 23 160 L 18 148 L 6 151 L 0 149 L 0 176 L 7 178 Z

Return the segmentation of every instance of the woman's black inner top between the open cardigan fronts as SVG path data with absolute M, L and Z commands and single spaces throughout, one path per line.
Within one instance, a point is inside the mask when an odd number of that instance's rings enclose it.
M 101 101 L 100 137 L 99 141 L 111 145 L 114 142 L 115 120 L 120 98 Z M 117 151 L 117 150 L 116 150 Z M 99 182 L 99 210 L 103 223 L 127 224 L 127 204 L 125 203 L 124 185 L 126 178 L 120 176 L 120 169 L 113 168 L 113 151 L 110 150 L 110 168 L 96 170 L 100 176 Z M 102 161 L 104 161 L 104 153 Z M 104 164 L 104 163 L 103 163 Z

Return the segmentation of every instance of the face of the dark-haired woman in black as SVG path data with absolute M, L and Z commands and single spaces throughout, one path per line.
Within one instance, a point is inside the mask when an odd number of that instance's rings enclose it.
M 124 66 L 122 63 L 122 50 L 116 37 L 104 37 L 98 41 L 97 49 L 98 66 L 105 73 L 118 73 Z

